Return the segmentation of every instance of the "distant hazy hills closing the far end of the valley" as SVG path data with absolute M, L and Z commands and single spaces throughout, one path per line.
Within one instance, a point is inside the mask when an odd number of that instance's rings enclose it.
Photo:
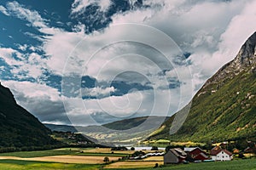
M 161 122 L 169 117 L 163 116 L 143 116 L 130 119 L 124 119 L 117 122 L 111 122 L 102 126 L 67 126 L 45 124 L 51 130 L 63 132 L 79 132 L 84 133 L 91 139 L 97 139 L 102 144 L 132 144 L 139 139 L 145 139 L 149 133 L 152 133 Z M 145 122 L 145 123 L 144 123 Z M 92 140 L 94 141 L 94 140 Z

